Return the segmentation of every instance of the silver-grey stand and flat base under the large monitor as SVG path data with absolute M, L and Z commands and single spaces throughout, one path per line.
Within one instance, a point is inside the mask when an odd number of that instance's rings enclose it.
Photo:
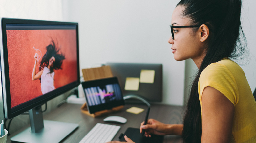
M 73 132 L 78 124 L 43 120 L 41 106 L 29 110 L 30 126 L 11 138 L 13 142 L 58 143 Z

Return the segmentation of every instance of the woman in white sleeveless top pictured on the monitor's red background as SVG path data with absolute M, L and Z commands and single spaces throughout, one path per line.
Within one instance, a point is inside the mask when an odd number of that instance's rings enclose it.
M 59 49 L 56 47 L 54 41 L 46 47 L 46 53 L 42 57 L 39 66 L 39 72 L 36 73 L 36 67 L 38 62 L 37 53 L 34 56 L 35 64 L 32 72 L 32 80 L 41 80 L 42 94 L 50 92 L 55 89 L 54 87 L 54 69 L 61 69 L 62 61 L 65 59 L 63 54 L 59 54 Z

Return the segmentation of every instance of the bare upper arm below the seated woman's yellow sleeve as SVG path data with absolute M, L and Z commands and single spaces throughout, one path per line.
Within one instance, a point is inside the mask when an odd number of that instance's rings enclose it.
M 220 91 L 205 87 L 202 93 L 202 143 L 229 142 L 234 105 Z

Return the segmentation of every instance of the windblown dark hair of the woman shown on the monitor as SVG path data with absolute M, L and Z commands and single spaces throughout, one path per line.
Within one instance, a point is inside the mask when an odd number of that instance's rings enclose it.
M 46 53 L 44 54 L 40 62 L 39 71 L 41 71 L 45 66 L 47 67 L 49 65 L 49 60 L 51 57 L 55 58 L 55 62 L 53 64 L 53 67 L 50 68 L 50 73 L 52 73 L 54 70 L 62 69 L 61 65 L 63 60 L 65 59 L 65 56 L 60 53 L 60 49 L 57 47 L 53 40 L 48 46 L 46 46 Z

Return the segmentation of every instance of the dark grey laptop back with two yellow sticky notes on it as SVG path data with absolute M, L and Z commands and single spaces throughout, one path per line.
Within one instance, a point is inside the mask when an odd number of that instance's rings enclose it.
M 107 62 L 105 65 L 117 76 L 124 96 L 139 95 L 149 102 L 162 101 L 162 64 Z

